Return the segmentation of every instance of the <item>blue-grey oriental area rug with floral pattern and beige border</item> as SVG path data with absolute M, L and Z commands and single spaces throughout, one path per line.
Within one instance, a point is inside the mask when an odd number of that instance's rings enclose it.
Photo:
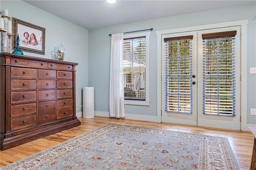
M 238 170 L 228 138 L 106 124 L 2 170 Z

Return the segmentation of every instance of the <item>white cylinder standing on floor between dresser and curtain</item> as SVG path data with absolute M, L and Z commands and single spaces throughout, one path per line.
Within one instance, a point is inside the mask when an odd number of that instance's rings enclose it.
M 83 87 L 83 118 L 94 117 L 94 87 Z

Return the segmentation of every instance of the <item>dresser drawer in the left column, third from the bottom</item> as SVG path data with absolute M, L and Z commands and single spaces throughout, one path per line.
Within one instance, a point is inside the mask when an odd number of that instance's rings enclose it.
M 36 101 L 36 91 L 12 91 L 11 103 Z

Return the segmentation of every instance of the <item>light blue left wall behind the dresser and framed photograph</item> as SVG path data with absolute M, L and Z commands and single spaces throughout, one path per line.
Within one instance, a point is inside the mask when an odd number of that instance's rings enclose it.
M 3 12 L 5 9 L 9 10 L 10 17 L 46 30 L 45 55 L 29 52 L 24 52 L 24 55 L 51 59 L 51 51 L 57 43 L 62 42 L 66 47 L 64 61 L 78 63 L 76 66 L 76 103 L 81 106 L 82 87 L 88 86 L 88 30 L 20 0 L 1 0 L 0 10 Z M 76 107 L 77 112 L 81 112 L 80 109 Z

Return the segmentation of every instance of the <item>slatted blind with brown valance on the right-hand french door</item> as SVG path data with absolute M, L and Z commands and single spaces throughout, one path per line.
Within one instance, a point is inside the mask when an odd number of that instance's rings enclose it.
M 236 31 L 203 34 L 203 113 L 235 115 Z

